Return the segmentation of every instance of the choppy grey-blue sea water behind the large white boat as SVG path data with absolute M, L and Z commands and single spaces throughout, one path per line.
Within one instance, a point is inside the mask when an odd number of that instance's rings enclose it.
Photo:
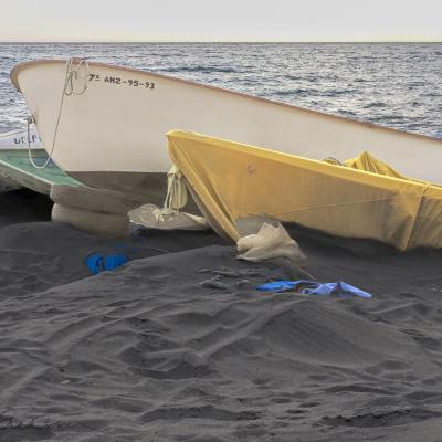
M 0 131 L 29 115 L 11 69 L 71 56 L 442 138 L 442 43 L 0 43 Z

